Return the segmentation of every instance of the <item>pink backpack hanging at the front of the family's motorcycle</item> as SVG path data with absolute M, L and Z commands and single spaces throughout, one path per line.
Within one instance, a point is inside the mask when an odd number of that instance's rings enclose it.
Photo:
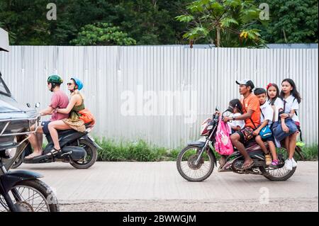
M 215 137 L 215 150 L 222 155 L 230 155 L 234 152 L 234 147 L 230 140 L 230 126 L 228 123 L 224 123 L 222 118 L 219 118 L 217 126 L 216 137 Z

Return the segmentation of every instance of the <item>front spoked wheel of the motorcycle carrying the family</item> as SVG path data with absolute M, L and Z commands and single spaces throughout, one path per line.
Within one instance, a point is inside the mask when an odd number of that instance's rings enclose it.
M 196 163 L 200 150 L 200 147 L 188 146 L 181 150 L 177 157 L 177 170 L 187 181 L 204 181 L 213 172 L 215 157 L 211 152 L 203 152 L 203 156 Z

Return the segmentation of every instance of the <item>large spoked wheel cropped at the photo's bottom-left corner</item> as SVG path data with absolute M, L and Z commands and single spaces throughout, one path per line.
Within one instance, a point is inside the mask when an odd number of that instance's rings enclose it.
M 38 179 L 19 181 L 9 196 L 18 212 L 59 212 L 57 198 L 51 188 Z M 9 212 L 3 196 L 0 196 L 0 212 Z

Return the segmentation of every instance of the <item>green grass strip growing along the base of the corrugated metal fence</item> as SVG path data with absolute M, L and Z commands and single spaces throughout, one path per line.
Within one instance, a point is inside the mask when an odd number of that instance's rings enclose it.
M 95 139 L 101 146 L 99 150 L 98 161 L 101 162 L 159 162 L 159 161 L 176 161 L 177 155 L 182 148 L 167 149 L 150 145 L 144 140 L 137 141 L 120 141 L 110 139 Z M 303 156 L 307 161 L 318 161 L 318 145 L 304 146 L 301 148 Z M 280 151 L 279 151 L 280 152 Z M 216 153 L 216 158 L 220 155 Z M 286 156 L 285 152 L 282 152 Z M 296 160 L 299 160 L 296 157 Z

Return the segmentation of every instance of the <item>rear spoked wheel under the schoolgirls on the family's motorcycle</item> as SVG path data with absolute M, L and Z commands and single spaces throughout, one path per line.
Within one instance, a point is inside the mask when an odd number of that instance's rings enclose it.
M 295 154 L 296 153 L 298 154 L 297 150 L 295 151 Z M 266 177 L 270 181 L 286 181 L 289 178 L 291 178 L 291 176 L 293 176 L 293 174 L 296 171 L 297 167 L 293 167 L 293 169 L 289 171 L 284 166 L 285 159 L 287 159 L 287 149 L 286 148 L 284 148 L 284 147 L 279 148 L 278 159 L 279 159 L 280 164 L 279 164 L 279 167 L 277 169 L 272 169 L 272 168 L 263 169 L 264 177 Z

